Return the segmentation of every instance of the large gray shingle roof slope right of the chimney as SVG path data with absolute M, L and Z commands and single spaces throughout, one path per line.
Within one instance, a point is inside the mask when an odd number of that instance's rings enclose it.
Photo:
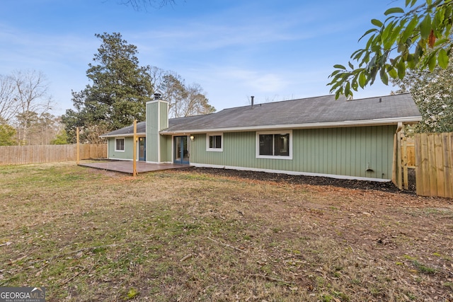
M 331 124 L 352 125 L 396 124 L 418 122 L 420 112 L 410 94 L 386 95 L 357 100 L 335 100 L 334 95 L 263 103 L 251 107 L 243 106 L 224 109 L 210 115 L 182 117 L 168 121 L 168 129 L 162 134 L 178 132 L 219 131 L 225 129 L 263 129 L 284 127 L 326 127 Z M 376 122 L 378 123 L 378 122 Z

